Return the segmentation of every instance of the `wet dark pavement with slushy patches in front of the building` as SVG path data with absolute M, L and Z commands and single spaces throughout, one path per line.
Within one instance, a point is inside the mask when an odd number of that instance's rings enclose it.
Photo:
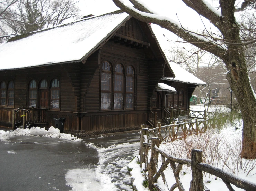
M 130 191 L 124 167 L 138 152 L 138 141 L 139 134 L 132 132 L 85 138 L 82 142 L 23 136 L 0 141 L 0 191 L 100 190 L 99 180 L 92 181 L 95 172 L 110 178 L 113 190 Z M 97 148 L 86 146 L 91 142 Z M 70 169 L 84 172 L 82 181 L 89 180 L 90 186 L 68 182 Z

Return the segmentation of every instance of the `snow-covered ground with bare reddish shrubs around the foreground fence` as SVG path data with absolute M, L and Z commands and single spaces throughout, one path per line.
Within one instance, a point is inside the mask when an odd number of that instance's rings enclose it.
M 194 106 L 197 110 L 204 109 L 203 105 Z M 191 109 L 192 110 L 192 109 Z M 214 108 L 211 108 L 214 111 Z M 242 141 L 242 120 L 233 121 L 232 124 L 226 124 L 222 130 L 209 129 L 203 135 L 192 135 L 187 137 L 186 140 L 176 140 L 173 143 L 161 144 L 160 148 L 164 149 L 166 152 L 175 155 L 180 158 L 188 158 L 188 149 L 203 147 L 203 162 L 212 164 L 220 169 L 231 172 L 238 175 L 240 178 L 246 179 L 250 182 L 256 183 L 256 159 L 255 160 L 245 160 L 241 159 L 241 141 Z M 208 147 L 209 146 L 209 147 Z M 150 152 L 149 152 L 150 156 Z M 139 156 L 138 156 L 139 158 Z M 214 158 L 214 160 L 212 160 Z M 150 160 L 150 157 L 149 157 Z M 210 162 L 211 161 L 211 162 Z M 142 184 L 145 181 L 145 174 L 142 172 L 140 165 L 136 163 L 135 158 L 128 167 L 132 169 L 132 178 L 135 179 L 134 185 L 138 191 L 148 191 Z M 159 155 L 158 167 L 161 167 L 161 157 Z M 144 163 L 143 163 L 144 165 Z M 167 184 L 170 187 L 175 183 L 175 178 L 173 172 L 170 168 L 164 171 L 165 177 L 167 177 Z M 204 184 L 211 191 L 228 191 L 228 188 L 223 183 L 223 181 L 213 175 L 204 173 L 203 174 Z M 191 169 L 187 168 L 185 165 L 180 171 L 180 180 L 185 188 L 189 190 L 191 181 Z M 158 184 L 165 189 L 162 178 L 159 177 Z M 237 188 L 233 186 L 235 191 L 243 191 L 244 189 Z M 175 191 L 178 188 L 175 189 Z

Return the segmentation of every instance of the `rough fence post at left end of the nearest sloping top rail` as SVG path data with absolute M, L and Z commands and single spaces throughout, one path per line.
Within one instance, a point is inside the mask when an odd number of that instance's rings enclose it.
M 151 156 L 150 156 L 149 171 L 148 171 L 149 190 L 153 190 L 153 188 L 154 188 L 152 179 L 153 179 L 154 174 L 157 173 L 154 159 L 157 162 L 157 160 L 158 160 L 158 152 L 156 152 L 154 150 L 155 145 L 157 145 L 157 147 L 159 147 L 160 139 L 157 138 L 157 137 L 152 137 L 152 141 L 151 141 Z

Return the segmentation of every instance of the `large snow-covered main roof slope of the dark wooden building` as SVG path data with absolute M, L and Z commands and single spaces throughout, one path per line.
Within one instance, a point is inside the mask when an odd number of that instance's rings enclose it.
M 82 61 L 130 17 L 115 11 L 13 37 L 0 46 L 0 70 Z

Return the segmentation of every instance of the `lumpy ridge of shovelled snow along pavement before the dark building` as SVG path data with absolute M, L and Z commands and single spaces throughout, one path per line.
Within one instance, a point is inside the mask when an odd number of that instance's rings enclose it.
M 65 139 L 74 142 L 82 141 L 80 138 L 77 138 L 74 135 L 60 133 L 60 130 L 54 128 L 53 126 L 51 126 L 48 131 L 45 128 L 40 127 L 32 127 L 31 129 L 17 128 L 14 131 L 0 131 L 0 140 L 7 140 L 9 137 L 14 136 L 42 136 L 49 138 Z

